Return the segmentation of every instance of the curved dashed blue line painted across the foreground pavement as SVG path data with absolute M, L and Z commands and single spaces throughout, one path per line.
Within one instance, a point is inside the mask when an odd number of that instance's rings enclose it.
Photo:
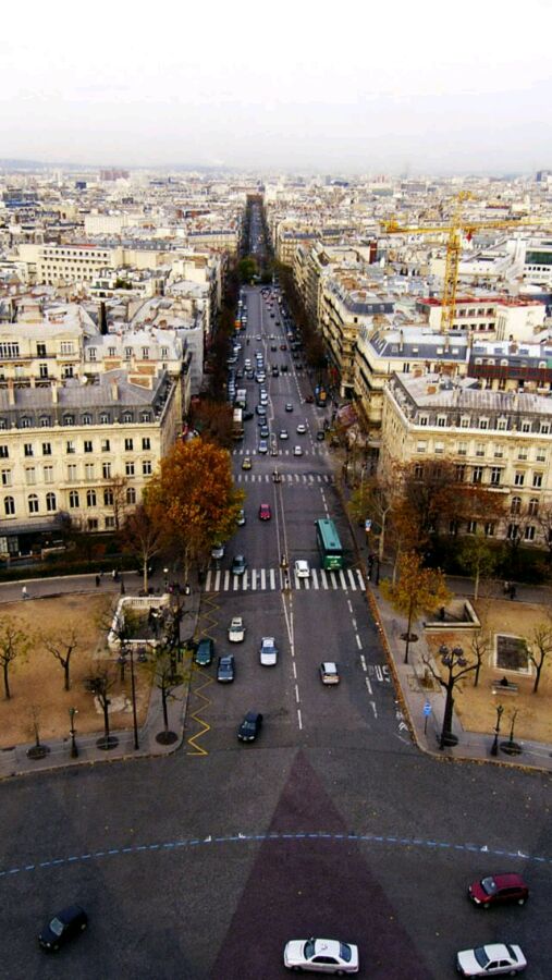
M 115 855 L 137 855 L 143 852 L 156 852 L 156 850 L 172 850 L 175 847 L 197 847 L 200 844 L 236 844 L 244 843 L 250 844 L 259 841 L 305 841 L 305 840 L 318 840 L 318 841 L 330 841 L 330 842 L 343 842 L 343 841 L 358 841 L 359 843 L 369 843 L 369 844 L 392 844 L 393 846 L 400 847 L 418 847 L 418 848 L 428 848 L 428 847 L 440 847 L 443 849 L 454 849 L 454 850 L 463 850 L 465 853 L 474 854 L 486 854 L 490 857 L 510 857 L 517 860 L 524 861 L 533 861 L 543 865 L 552 865 L 552 856 L 547 857 L 545 855 L 531 855 L 522 850 L 504 850 L 499 847 L 493 848 L 488 845 L 477 845 L 477 844 L 453 844 L 449 841 L 425 841 L 421 837 L 396 837 L 392 834 L 381 835 L 381 834 L 331 834 L 323 831 L 317 832 L 302 832 L 302 833 L 265 833 L 265 834 L 228 834 L 225 836 L 211 837 L 208 835 L 199 840 L 198 837 L 193 837 L 189 840 L 180 840 L 180 841 L 167 841 L 163 843 L 152 843 L 152 844 L 134 844 L 126 845 L 125 847 L 111 847 L 109 850 L 95 850 L 88 852 L 86 854 L 75 855 L 72 854 L 68 857 L 62 858 L 50 858 L 46 861 L 38 861 L 32 865 L 22 865 L 21 867 L 14 868 L 5 868 L 3 870 L 0 869 L 0 879 L 8 878 L 9 875 L 21 874 L 25 871 L 38 871 L 44 868 L 59 868 L 63 865 L 75 865 L 79 861 L 89 861 L 93 858 L 105 858 L 105 857 L 113 857 Z

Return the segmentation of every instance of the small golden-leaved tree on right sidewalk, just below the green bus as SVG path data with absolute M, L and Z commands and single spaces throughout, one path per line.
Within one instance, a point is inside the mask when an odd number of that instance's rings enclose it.
M 420 612 L 446 605 L 451 598 L 445 577 L 439 568 L 425 568 L 420 555 L 408 551 L 400 559 L 396 583 L 383 581 L 381 591 L 397 612 L 407 616 L 404 662 L 408 663 L 413 621 Z

